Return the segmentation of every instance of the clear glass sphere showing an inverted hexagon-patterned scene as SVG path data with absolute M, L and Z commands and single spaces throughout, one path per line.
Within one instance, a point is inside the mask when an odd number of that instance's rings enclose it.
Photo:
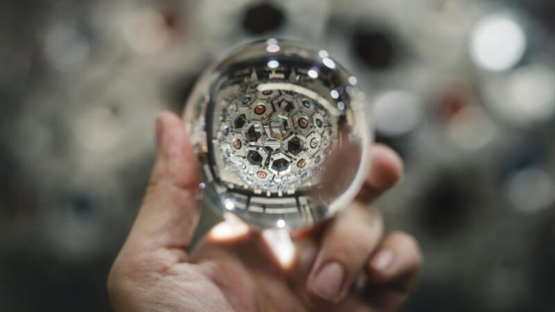
M 257 229 L 309 227 L 347 207 L 372 137 L 356 84 L 326 51 L 275 39 L 207 69 L 185 108 L 204 198 Z

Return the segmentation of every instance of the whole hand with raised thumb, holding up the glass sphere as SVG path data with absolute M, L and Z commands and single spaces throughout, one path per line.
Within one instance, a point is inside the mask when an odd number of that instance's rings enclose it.
M 373 146 L 370 175 L 355 202 L 311 233 L 293 237 L 296 262 L 283 268 L 262 235 L 191 243 L 199 216 L 199 173 L 182 121 L 157 118 L 158 153 L 142 208 L 108 277 L 115 311 L 395 311 L 422 256 L 408 234 L 382 239 L 368 204 L 402 175 L 393 151 Z M 359 274 L 359 273 L 363 274 Z M 357 276 L 366 281 L 352 289 Z

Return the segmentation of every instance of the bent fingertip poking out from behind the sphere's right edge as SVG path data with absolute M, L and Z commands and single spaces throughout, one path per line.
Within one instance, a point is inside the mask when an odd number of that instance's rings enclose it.
M 402 159 L 391 148 L 375 144 L 370 149 L 370 158 L 370 173 L 357 195 L 357 200 L 367 203 L 395 186 L 403 175 Z

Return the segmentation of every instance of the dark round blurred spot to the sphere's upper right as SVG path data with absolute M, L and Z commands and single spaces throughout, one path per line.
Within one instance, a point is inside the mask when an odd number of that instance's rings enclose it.
M 351 39 L 352 51 L 371 69 L 389 69 L 395 65 L 398 51 L 391 33 L 358 26 Z

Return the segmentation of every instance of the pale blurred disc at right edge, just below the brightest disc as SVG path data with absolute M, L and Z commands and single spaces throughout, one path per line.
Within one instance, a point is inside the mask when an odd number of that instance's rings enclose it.
M 507 78 L 506 92 L 514 108 L 524 114 L 541 117 L 555 112 L 555 73 L 547 66 L 516 69 Z

